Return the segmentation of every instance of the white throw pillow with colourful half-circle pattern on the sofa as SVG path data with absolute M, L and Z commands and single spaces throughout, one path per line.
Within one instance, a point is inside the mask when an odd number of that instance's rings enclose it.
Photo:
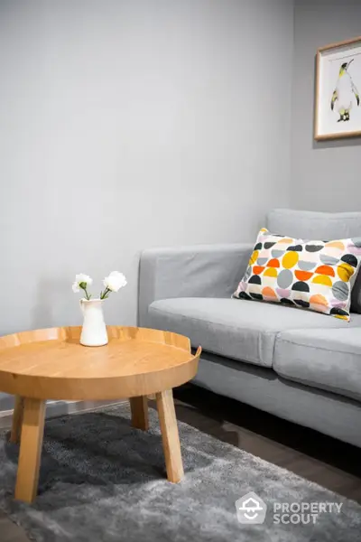
M 234 297 L 299 306 L 349 321 L 361 238 L 313 241 L 261 229 Z

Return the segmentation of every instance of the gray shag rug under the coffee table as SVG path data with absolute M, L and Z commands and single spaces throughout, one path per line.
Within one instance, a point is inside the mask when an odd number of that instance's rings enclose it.
M 183 423 L 185 477 L 169 483 L 156 412 L 150 409 L 146 433 L 133 429 L 129 416 L 122 404 L 48 421 L 32 506 L 13 500 L 19 450 L 0 435 L 0 508 L 37 542 L 360 541 L 356 502 Z M 267 504 L 262 525 L 237 521 L 235 501 L 250 491 Z M 342 508 L 319 513 L 316 523 L 275 524 L 275 502 Z

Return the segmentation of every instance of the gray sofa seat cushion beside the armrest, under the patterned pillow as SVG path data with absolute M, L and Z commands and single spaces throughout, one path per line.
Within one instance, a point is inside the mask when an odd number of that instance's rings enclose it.
M 281 304 L 237 299 L 182 297 L 155 301 L 148 308 L 147 326 L 190 337 L 192 346 L 264 367 L 273 365 L 276 335 L 302 328 L 346 329 L 361 324 L 356 314 L 347 323 L 324 314 Z

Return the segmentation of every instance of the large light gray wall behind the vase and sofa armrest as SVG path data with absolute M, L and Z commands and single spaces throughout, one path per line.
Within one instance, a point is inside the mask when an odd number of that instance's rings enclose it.
M 107 322 L 132 324 L 142 248 L 253 238 L 287 204 L 292 20 L 289 0 L 0 3 L 1 334 L 79 323 L 73 276 L 113 269 Z

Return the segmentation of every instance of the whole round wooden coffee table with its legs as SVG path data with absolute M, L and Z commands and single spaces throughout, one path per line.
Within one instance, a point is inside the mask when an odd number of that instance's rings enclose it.
M 0 391 L 16 396 L 10 439 L 20 442 L 15 499 L 35 499 L 45 402 L 130 398 L 132 424 L 148 428 L 147 396 L 155 394 L 167 477 L 183 476 L 172 388 L 193 378 L 195 355 L 182 335 L 109 326 L 102 347 L 79 344 L 81 328 L 52 328 L 0 337 Z M 121 462 L 121 458 L 119 458 Z

